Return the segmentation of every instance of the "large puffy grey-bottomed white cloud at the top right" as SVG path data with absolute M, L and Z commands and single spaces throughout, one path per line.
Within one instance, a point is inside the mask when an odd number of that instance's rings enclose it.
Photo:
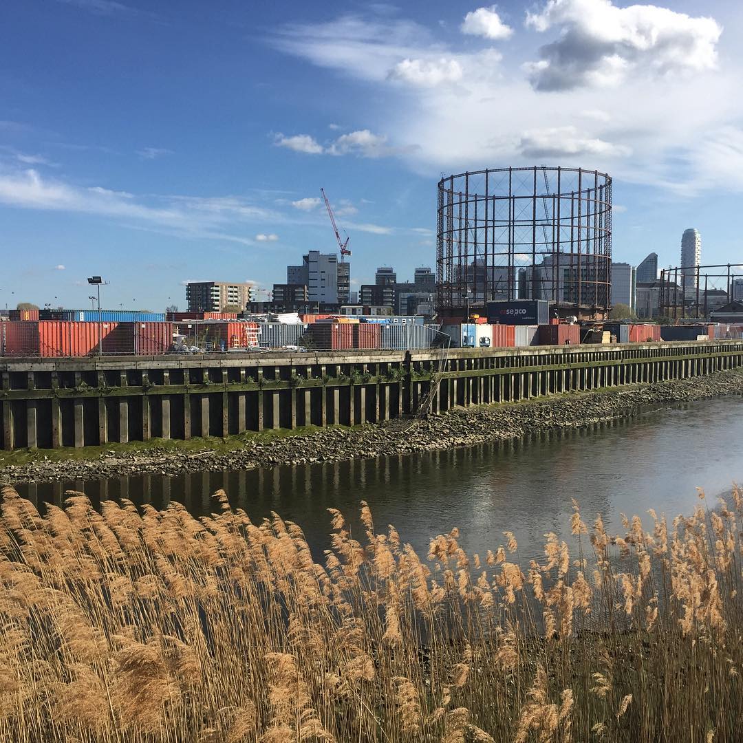
M 616 7 L 611 0 L 548 0 L 526 25 L 559 27 L 557 41 L 526 65 L 539 91 L 617 85 L 633 71 L 655 74 L 715 68 L 722 28 L 715 19 L 654 5 Z

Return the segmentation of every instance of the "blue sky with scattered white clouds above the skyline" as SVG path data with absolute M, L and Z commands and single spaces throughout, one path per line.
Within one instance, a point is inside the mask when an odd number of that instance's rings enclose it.
M 614 177 L 614 258 L 743 261 L 743 10 L 537 0 L 3 0 L 0 306 L 184 305 L 187 279 L 435 264 L 441 174 Z M 700 10 L 703 7 L 704 10 Z

